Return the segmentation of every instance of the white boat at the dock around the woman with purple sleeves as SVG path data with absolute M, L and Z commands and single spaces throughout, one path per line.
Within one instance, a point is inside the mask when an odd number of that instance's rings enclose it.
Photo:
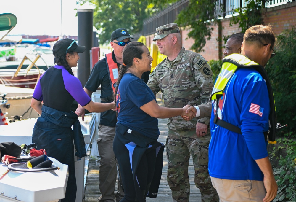
M 0 126 L 0 143 L 14 142 L 17 145 L 32 144 L 32 130 L 36 119 L 15 121 Z M 81 131 L 85 144 L 90 143 L 89 125 L 80 120 Z M 75 202 L 83 201 L 85 187 L 85 160 L 74 157 L 77 193 Z M 1 202 L 58 202 L 64 198 L 67 184 L 67 165 L 55 162 L 58 168 L 55 171 L 42 171 L 26 173 L 23 171 L 9 171 L 7 166 L 0 162 L 0 188 Z M 4 176 L 2 174 L 5 174 Z

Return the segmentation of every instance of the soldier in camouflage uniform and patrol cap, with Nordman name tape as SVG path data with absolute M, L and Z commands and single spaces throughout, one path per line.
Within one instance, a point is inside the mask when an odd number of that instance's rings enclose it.
M 160 53 L 167 55 L 150 74 L 147 85 L 154 94 L 161 91 L 165 107 L 180 108 L 186 104 L 197 106 L 209 101 L 213 88 L 212 71 L 200 54 L 185 50 L 176 23 L 156 29 Z M 167 180 L 174 202 L 188 202 L 190 184 L 189 157 L 192 156 L 195 185 L 200 189 L 202 201 L 219 201 L 208 173 L 209 117 L 183 120 L 168 119 L 166 150 L 168 158 Z

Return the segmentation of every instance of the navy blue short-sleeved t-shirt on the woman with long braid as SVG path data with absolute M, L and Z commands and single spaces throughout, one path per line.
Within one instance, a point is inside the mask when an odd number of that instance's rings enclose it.
M 158 139 L 157 118 L 145 113 L 141 106 L 156 98 L 143 79 L 131 73 L 123 75 L 117 91 L 116 106 L 118 123 L 149 138 Z

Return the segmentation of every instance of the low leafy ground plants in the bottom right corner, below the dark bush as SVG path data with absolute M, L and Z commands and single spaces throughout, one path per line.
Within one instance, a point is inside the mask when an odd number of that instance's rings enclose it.
M 292 136 L 288 133 L 285 136 Z M 274 177 L 278 185 L 276 198 L 273 202 L 277 201 L 296 201 L 296 141 L 295 139 L 288 139 L 287 137 L 277 139 L 277 147 L 273 148 L 270 158 L 278 160 L 278 168 L 274 168 Z M 278 156 L 276 153 L 284 149 L 286 156 Z

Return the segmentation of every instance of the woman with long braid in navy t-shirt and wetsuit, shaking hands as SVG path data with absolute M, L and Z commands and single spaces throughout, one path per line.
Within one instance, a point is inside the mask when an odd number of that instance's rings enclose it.
M 123 51 L 114 95 L 118 122 L 113 141 L 125 193 L 120 202 L 156 198 L 164 149 L 157 141 L 160 134 L 157 118 L 185 115 L 189 107 L 166 108 L 157 104 L 154 94 L 141 79 L 143 72 L 151 70 L 152 60 L 148 48 L 140 42 L 129 43 Z

